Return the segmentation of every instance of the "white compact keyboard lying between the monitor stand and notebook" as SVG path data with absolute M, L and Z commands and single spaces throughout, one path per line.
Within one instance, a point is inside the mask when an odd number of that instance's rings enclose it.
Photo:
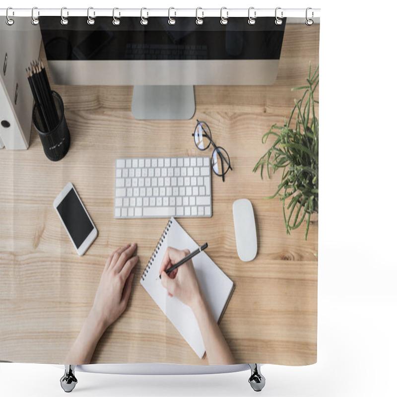
M 116 160 L 115 218 L 211 215 L 209 157 Z

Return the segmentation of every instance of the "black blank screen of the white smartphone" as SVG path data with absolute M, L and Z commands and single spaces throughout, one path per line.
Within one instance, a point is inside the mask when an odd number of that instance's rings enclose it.
M 57 206 L 57 210 L 74 245 L 78 249 L 91 233 L 94 225 L 91 223 L 74 189 L 70 189 L 69 193 Z

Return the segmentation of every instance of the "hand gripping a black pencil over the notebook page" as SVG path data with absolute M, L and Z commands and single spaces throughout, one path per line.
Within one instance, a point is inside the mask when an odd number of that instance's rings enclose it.
M 168 295 L 176 296 L 185 305 L 193 308 L 202 298 L 199 280 L 197 279 L 192 260 L 184 263 L 170 274 L 165 270 L 189 255 L 189 250 L 180 251 L 167 247 L 160 265 L 161 284 L 167 289 Z

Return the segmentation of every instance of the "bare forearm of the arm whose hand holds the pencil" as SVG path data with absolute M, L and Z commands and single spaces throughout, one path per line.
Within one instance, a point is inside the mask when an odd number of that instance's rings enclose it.
M 200 297 L 192 307 L 199 324 L 209 365 L 235 364 L 229 346 L 215 321 L 205 298 Z

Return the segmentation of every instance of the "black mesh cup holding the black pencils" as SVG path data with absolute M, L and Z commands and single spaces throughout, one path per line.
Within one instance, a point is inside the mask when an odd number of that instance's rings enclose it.
M 52 91 L 55 107 L 57 109 L 59 123 L 49 132 L 45 132 L 43 121 L 40 118 L 36 104 L 33 107 L 33 125 L 40 136 L 44 153 L 51 161 L 59 161 L 66 156 L 70 146 L 70 133 L 67 128 L 64 102 L 61 96 Z

